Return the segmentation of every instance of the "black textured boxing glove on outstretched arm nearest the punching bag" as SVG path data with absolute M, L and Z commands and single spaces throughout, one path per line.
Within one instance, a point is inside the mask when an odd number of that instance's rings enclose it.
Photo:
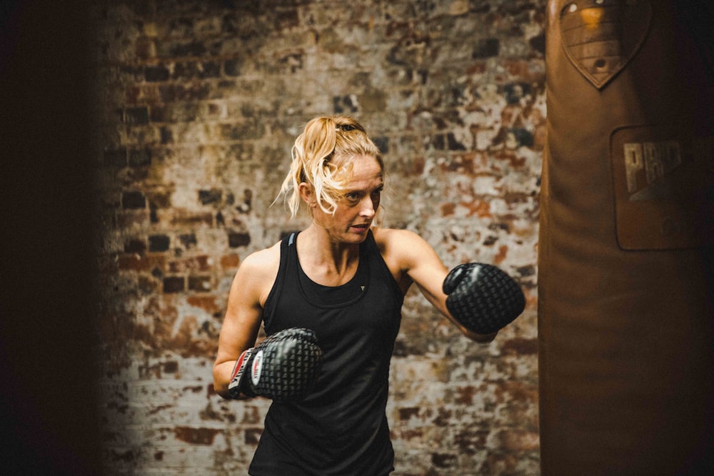
M 466 263 L 453 268 L 443 283 L 446 308 L 463 327 L 492 334 L 526 308 L 521 286 L 493 265 Z

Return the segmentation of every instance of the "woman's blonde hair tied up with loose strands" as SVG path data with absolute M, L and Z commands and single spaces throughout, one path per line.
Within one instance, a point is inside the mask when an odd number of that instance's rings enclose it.
M 300 183 L 313 186 L 317 203 L 326 213 L 335 213 L 337 201 L 351 178 L 355 156 L 373 156 L 383 169 L 379 148 L 364 128 L 348 116 L 320 116 L 311 119 L 295 140 L 290 171 L 276 201 L 287 198 L 291 216 L 300 209 Z M 288 196 L 289 194 L 289 196 Z

